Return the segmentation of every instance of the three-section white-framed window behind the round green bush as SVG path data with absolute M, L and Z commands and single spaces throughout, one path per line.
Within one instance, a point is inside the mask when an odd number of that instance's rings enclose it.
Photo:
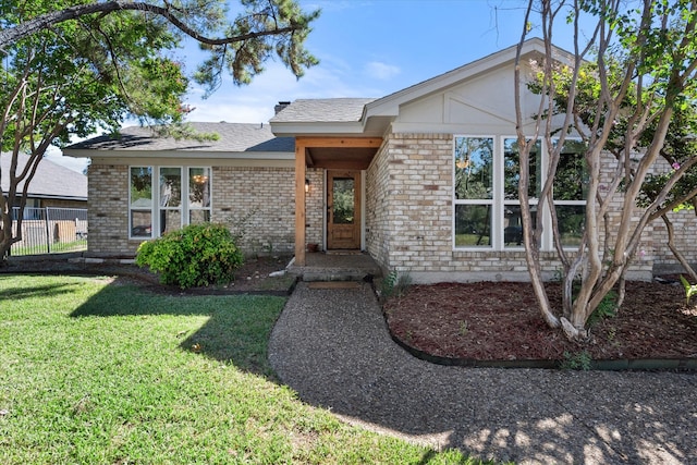
M 210 221 L 210 168 L 131 167 L 130 236 L 158 237 L 184 224 Z

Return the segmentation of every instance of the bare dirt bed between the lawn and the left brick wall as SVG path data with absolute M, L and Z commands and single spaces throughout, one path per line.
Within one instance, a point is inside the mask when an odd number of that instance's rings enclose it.
M 163 285 L 159 277 L 147 268 L 114 260 L 93 264 L 75 258 L 58 258 L 56 256 L 40 256 L 36 258 L 11 257 L 5 267 L 0 267 L 0 273 L 38 273 L 65 274 L 82 273 L 96 276 L 118 276 L 127 278 L 131 282 L 147 286 L 152 292 L 163 294 L 196 294 L 220 295 L 239 293 L 288 294 L 295 283 L 292 274 L 270 276 L 285 269 L 292 257 L 269 256 L 247 258 L 242 267 L 235 271 L 235 280 L 224 285 L 193 287 L 181 290 L 178 286 Z M 123 280 L 122 280 L 123 281 Z

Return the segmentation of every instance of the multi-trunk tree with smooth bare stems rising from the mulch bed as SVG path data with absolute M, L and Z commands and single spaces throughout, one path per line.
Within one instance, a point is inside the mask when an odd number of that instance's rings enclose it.
M 521 71 L 521 50 L 530 30 L 534 11 L 539 13 L 546 52 L 537 63 L 538 72 L 528 79 Z M 523 240 L 542 317 L 550 327 L 562 327 L 570 339 L 586 338 L 588 318 L 610 291 L 622 284 L 645 227 L 696 161 L 690 159 L 675 170 L 638 219 L 634 218 L 634 207 L 647 175 L 661 156 L 675 112 L 695 99 L 696 22 L 695 0 L 528 2 L 515 68 Z M 592 24 L 592 29 L 582 32 L 582 24 L 586 27 Z M 551 44 L 552 33 L 563 27 L 573 36 L 574 49 L 572 56 L 560 63 Z M 525 123 L 530 115 L 523 114 L 522 89 L 530 85 L 530 81 L 540 100 L 534 129 L 526 132 Z M 560 93 L 564 96 L 561 100 L 557 98 Z M 586 146 L 588 201 L 580 244 L 568 253 L 562 246 L 557 212 L 551 206 L 564 142 L 574 132 Z M 545 210 L 552 218 L 554 247 L 563 276 L 561 316 L 553 310 L 542 285 L 539 261 L 542 221 L 534 221 L 528 201 L 529 154 L 539 138 L 547 142 L 549 163 L 535 215 L 542 215 Z M 552 143 L 553 138 L 557 143 Z M 607 157 L 602 156 L 608 151 L 614 155 L 609 167 L 612 175 L 601 185 L 601 158 L 606 163 Z M 603 170 L 607 171 L 608 166 Z M 608 212 L 615 199 L 620 199 L 621 212 L 610 228 Z M 580 285 L 574 291 L 577 279 Z

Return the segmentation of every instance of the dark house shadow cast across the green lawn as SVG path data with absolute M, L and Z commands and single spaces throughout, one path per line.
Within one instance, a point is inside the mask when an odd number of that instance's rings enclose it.
M 284 297 L 267 295 L 176 295 L 151 292 L 133 279 L 117 278 L 77 307 L 72 317 L 201 316 L 207 321 L 180 347 L 278 381 L 267 360 L 268 341 Z

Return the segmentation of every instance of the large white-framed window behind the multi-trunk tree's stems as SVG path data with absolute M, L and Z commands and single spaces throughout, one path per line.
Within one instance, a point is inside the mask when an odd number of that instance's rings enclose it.
M 454 138 L 454 247 L 519 249 L 523 245 L 519 156 L 515 137 L 455 136 Z M 579 140 L 566 140 L 553 184 L 554 211 L 562 244 L 580 243 L 586 210 L 588 172 Z M 536 220 L 545 183 L 547 159 L 541 140 L 529 154 L 528 197 Z M 548 210 L 549 211 L 549 210 Z M 551 248 L 550 215 L 543 216 L 542 244 Z

